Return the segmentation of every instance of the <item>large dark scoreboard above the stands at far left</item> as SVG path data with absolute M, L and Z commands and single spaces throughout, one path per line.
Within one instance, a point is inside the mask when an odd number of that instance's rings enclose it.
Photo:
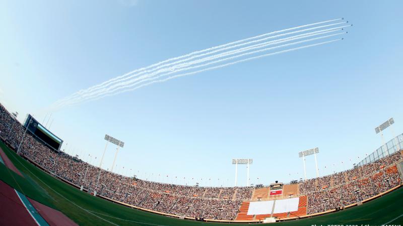
M 63 141 L 38 123 L 38 121 L 35 120 L 31 115 L 27 116 L 24 127 L 28 128 L 28 131 L 31 132 L 31 134 L 44 145 L 55 151 L 60 150 Z

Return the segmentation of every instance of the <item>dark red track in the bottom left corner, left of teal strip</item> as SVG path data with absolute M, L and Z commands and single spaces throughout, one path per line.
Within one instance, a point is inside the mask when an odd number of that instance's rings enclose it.
M 0 225 L 37 225 L 16 191 L 1 180 L 0 203 Z

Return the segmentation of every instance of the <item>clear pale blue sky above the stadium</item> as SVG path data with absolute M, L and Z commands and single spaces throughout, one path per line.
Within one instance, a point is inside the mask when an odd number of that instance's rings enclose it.
M 231 159 L 253 158 L 251 183 L 289 182 L 303 175 L 299 151 L 319 147 L 323 175 L 378 148 L 374 128 L 390 117 L 403 132 L 401 1 L 0 4 L 0 102 L 20 121 L 31 113 L 42 122 L 41 109 L 79 89 L 195 50 L 341 17 L 354 24 L 342 42 L 52 112 L 50 130 L 84 160 L 92 154 L 99 164 L 105 133 L 124 141 L 120 173 L 226 186 L 234 185 Z M 113 155 L 109 145 L 104 168 Z M 246 168 L 238 174 L 245 185 Z M 313 157 L 307 175 L 315 176 Z

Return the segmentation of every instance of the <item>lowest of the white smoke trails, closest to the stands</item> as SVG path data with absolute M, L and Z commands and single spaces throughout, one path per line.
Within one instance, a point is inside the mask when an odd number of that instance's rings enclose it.
M 182 77 L 182 76 L 186 76 L 186 75 L 192 75 L 192 74 L 196 74 L 196 73 L 201 73 L 201 72 L 204 72 L 204 71 L 213 70 L 213 69 L 218 69 L 218 68 L 230 66 L 230 65 L 237 64 L 237 63 L 241 63 L 241 62 L 245 62 L 245 61 L 250 61 L 250 60 L 254 60 L 254 59 L 259 59 L 259 58 L 266 57 L 266 56 L 272 56 L 272 55 L 277 55 L 277 54 L 281 54 L 281 53 L 291 52 L 291 51 L 295 51 L 295 50 L 299 50 L 299 49 L 304 49 L 304 48 L 309 48 L 309 47 L 313 47 L 313 46 L 323 45 L 323 44 L 327 44 L 327 43 L 331 43 L 331 42 L 336 42 L 336 41 L 340 41 L 340 40 L 342 40 L 342 38 L 341 38 L 341 39 L 334 39 L 334 40 L 330 40 L 330 41 L 326 41 L 326 42 L 320 42 L 320 43 L 305 45 L 305 46 L 300 46 L 300 47 L 296 47 L 296 48 L 292 48 L 292 49 L 287 49 L 287 50 L 281 50 L 281 51 L 274 52 L 274 53 L 267 53 L 267 54 L 263 54 L 263 55 L 258 55 L 258 56 L 254 56 L 254 57 L 245 58 L 245 59 L 242 59 L 242 60 L 237 60 L 237 61 L 230 62 L 230 63 L 226 63 L 226 64 L 221 64 L 221 65 L 217 65 L 217 66 L 213 66 L 213 67 L 208 67 L 208 68 L 201 69 L 201 70 L 197 70 L 197 71 L 192 71 L 192 72 L 182 73 L 182 74 L 178 74 L 178 75 L 173 75 L 173 76 L 170 76 L 170 77 L 167 77 L 167 78 L 164 78 L 164 79 L 154 80 L 154 81 L 150 81 L 150 82 L 145 83 L 145 84 L 141 84 L 141 85 L 136 86 L 136 87 L 131 87 L 131 88 L 129 88 L 129 89 L 123 89 L 123 90 L 120 90 L 120 91 L 118 91 L 118 92 L 114 92 L 114 93 L 105 93 L 104 95 L 98 96 L 98 97 L 96 97 L 96 98 L 86 99 L 85 102 L 98 100 L 98 99 L 101 99 L 101 98 L 104 98 L 104 97 L 107 97 L 107 96 L 117 95 L 117 94 L 120 94 L 120 93 L 123 93 L 123 92 L 133 91 L 133 90 L 139 89 L 139 88 L 141 88 L 141 87 L 151 85 L 151 84 L 153 84 L 153 83 L 165 82 L 165 81 L 170 80 L 170 79 L 173 79 L 173 78 L 178 78 L 178 77 Z M 73 104 L 76 104 L 76 103 L 71 103 L 71 104 L 69 104 L 69 105 L 73 105 Z

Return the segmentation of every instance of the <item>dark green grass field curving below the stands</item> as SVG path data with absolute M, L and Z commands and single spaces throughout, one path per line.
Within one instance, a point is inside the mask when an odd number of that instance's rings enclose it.
M 181 220 L 121 206 L 82 192 L 33 166 L 3 143 L 4 150 L 24 177 L 0 164 L 0 179 L 45 205 L 60 210 L 80 225 L 224 225 Z M 275 225 L 383 225 L 403 224 L 403 189 L 343 211 Z M 237 224 L 246 225 L 246 224 Z M 248 224 L 250 225 L 250 224 Z M 272 225 L 272 224 L 270 224 Z

